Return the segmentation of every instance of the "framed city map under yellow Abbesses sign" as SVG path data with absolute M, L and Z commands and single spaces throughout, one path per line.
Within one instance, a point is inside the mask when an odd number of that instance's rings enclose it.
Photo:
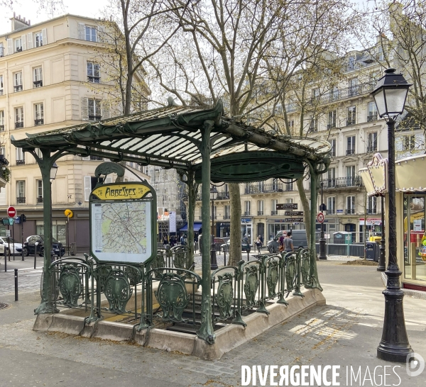
M 147 183 L 98 186 L 90 195 L 90 249 L 102 262 L 144 263 L 156 254 L 155 192 Z

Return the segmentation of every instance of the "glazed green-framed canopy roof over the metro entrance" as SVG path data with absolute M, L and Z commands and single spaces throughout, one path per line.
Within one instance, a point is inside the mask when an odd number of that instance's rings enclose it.
M 23 150 L 62 150 L 82 157 L 94 155 L 185 170 L 200 162 L 201 129 L 206 120 L 214 121 L 210 135 L 212 157 L 221 152 L 239 152 L 247 143 L 321 162 L 331 149 L 326 141 L 276 135 L 226 118 L 222 101 L 205 108 L 177 106 L 171 98 L 164 108 L 26 134 L 21 139 L 12 135 L 11 142 Z

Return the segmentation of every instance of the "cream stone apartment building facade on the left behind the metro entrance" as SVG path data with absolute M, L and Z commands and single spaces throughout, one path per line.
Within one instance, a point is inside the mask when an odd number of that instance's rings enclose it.
M 117 114 L 119 107 L 109 99 L 116 86 L 97 60 L 106 47 L 105 28 L 102 21 L 81 16 L 60 16 L 34 26 L 14 16 L 11 32 L 0 36 L 0 152 L 11 171 L 9 183 L 0 191 L 0 213 L 6 217 L 8 206 L 14 206 L 18 215 L 25 213 L 24 237 L 43 233 L 43 186 L 35 158 L 11 145 L 11 136 Z M 77 248 L 88 251 L 89 193 L 97 181 L 94 169 L 102 161 L 94 156 L 58 159 L 52 183 L 53 236 L 64 245 L 76 242 Z M 131 163 L 128 167 L 148 179 L 146 167 Z M 126 171 L 124 180 L 137 176 Z M 69 224 L 65 209 L 74 214 Z M 21 226 L 13 229 L 20 241 Z

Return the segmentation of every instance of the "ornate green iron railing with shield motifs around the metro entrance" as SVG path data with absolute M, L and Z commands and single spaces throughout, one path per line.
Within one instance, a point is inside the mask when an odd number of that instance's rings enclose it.
M 195 332 L 202 318 L 197 293 L 201 278 L 192 271 L 195 264 L 189 256 L 187 247 L 178 246 L 160 250 L 148 265 L 97 262 L 87 254 L 84 259 L 58 259 L 48 269 L 53 306 L 84 310 L 88 315 L 84 325 L 113 314 L 120 315 L 118 322 L 133 324 L 133 332 L 153 325 L 165 329 L 179 325 Z M 287 254 L 258 255 L 254 261 L 214 271 L 214 327 L 245 326 L 241 316 L 269 314 L 267 303 L 287 305 L 290 293 L 302 297 L 300 288 L 310 278 L 309 261 L 308 250 L 300 248 Z

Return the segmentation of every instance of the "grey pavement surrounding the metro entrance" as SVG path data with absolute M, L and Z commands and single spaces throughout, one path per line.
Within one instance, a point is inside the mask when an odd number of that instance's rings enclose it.
M 202 361 L 127 343 L 34 332 L 33 310 L 40 295 L 38 288 L 25 288 L 25 281 L 37 278 L 31 276 L 35 273 L 25 263 L 27 267 L 18 271 L 23 288 L 20 285 L 17 302 L 13 292 L 7 292 L 9 286 L 4 286 L 4 281 L 9 281 L 9 271 L 0 272 L 0 287 L 6 289 L 0 293 L 0 302 L 10 305 L 0 310 L 0 387 L 156 387 L 172 383 L 173 386 L 229 387 L 241 386 L 241 366 L 266 365 L 337 365 L 340 386 L 426 384 L 426 370 L 419 376 L 408 376 L 405 364 L 376 358 L 384 311 L 383 283 L 376 267 L 343 265 L 342 260 L 335 259 L 317 262 L 327 305 L 307 310 L 273 327 L 226 353 L 219 361 Z M 0 269 L 4 269 L 3 265 Z M 424 359 L 425 310 L 425 300 L 405 296 L 410 344 Z M 355 381 L 356 376 L 359 377 Z M 255 385 L 270 386 L 270 383 L 268 380 L 261 384 L 257 380 Z M 317 383 L 307 385 L 317 386 Z

